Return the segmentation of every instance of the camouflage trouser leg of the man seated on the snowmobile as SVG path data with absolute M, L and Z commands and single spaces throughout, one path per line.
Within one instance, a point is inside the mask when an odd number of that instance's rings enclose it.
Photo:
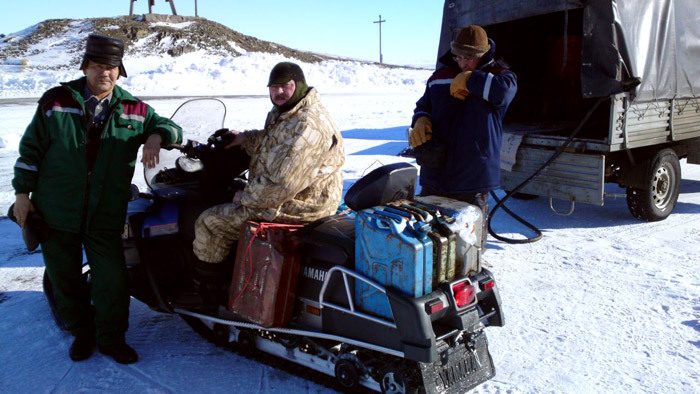
M 261 217 L 256 210 L 238 203 L 216 205 L 202 212 L 195 222 L 194 254 L 208 263 L 220 263 L 231 253 L 247 220 Z M 235 253 L 235 251 L 234 251 Z

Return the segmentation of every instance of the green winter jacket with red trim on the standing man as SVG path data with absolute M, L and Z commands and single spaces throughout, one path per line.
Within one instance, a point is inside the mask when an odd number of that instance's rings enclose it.
M 114 87 L 93 170 L 87 164 L 86 79 L 61 83 L 39 100 L 15 163 L 15 193 L 31 193 L 49 227 L 121 231 L 139 147 L 154 133 L 161 145 L 182 142 L 182 130 L 153 108 Z

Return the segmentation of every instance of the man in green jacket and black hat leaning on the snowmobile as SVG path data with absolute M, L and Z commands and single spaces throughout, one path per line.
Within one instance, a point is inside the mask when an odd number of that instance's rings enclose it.
M 85 77 L 41 97 L 12 180 L 19 225 L 38 211 L 49 227 L 41 251 L 59 314 L 75 337 L 73 361 L 90 357 L 96 344 L 119 363 L 138 359 L 124 339 L 130 298 L 120 237 L 131 178 L 141 145 L 144 166 L 153 167 L 161 147 L 182 141 L 179 126 L 115 85 L 127 76 L 123 55 L 121 40 L 88 37 Z

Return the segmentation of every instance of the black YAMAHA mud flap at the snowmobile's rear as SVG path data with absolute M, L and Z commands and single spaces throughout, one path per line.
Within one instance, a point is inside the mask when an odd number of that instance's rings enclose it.
M 483 331 L 442 350 L 440 360 L 419 364 L 426 393 L 464 393 L 496 374 Z

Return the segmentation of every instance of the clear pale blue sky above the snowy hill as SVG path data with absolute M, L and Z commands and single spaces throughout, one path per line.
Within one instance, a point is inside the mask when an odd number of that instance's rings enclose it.
M 175 0 L 180 15 L 194 15 L 194 0 Z M 129 0 L 0 0 L 0 33 L 23 30 L 46 19 L 126 15 Z M 200 17 L 243 34 L 297 49 L 379 60 L 391 64 L 434 64 L 442 22 L 441 0 L 198 0 Z M 137 0 L 134 13 L 148 12 Z M 153 12 L 170 14 L 170 4 L 156 0 Z

